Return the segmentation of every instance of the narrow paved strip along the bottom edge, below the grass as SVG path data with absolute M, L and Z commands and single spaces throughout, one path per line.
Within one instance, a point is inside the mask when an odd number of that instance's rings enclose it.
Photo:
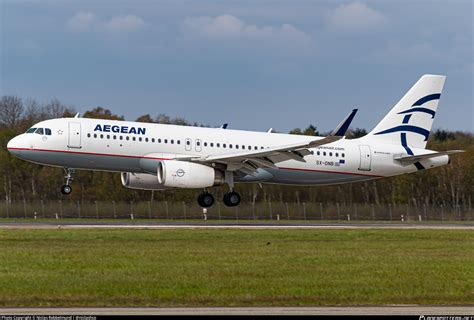
M 1 315 L 473 315 L 474 306 L 2 308 Z

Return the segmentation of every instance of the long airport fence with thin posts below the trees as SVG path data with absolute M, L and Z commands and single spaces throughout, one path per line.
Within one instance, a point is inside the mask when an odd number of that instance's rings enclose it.
M 216 201 L 203 209 L 193 202 L 4 201 L 0 218 L 25 219 L 204 219 L 339 221 L 474 221 L 471 205 L 344 204 L 243 202 L 227 207 Z

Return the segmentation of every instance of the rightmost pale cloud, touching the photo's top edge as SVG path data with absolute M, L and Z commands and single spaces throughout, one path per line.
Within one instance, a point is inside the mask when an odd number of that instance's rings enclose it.
M 379 11 L 362 2 L 339 5 L 326 16 L 326 26 L 336 32 L 357 33 L 376 31 L 386 22 Z

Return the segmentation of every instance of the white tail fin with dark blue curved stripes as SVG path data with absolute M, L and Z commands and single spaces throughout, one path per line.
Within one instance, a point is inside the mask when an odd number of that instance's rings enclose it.
M 423 75 L 367 137 L 424 149 L 445 80 L 445 76 Z

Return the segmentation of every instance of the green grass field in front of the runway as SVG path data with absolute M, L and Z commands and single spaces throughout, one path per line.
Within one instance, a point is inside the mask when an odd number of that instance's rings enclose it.
M 470 230 L 0 230 L 0 306 L 474 304 Z

